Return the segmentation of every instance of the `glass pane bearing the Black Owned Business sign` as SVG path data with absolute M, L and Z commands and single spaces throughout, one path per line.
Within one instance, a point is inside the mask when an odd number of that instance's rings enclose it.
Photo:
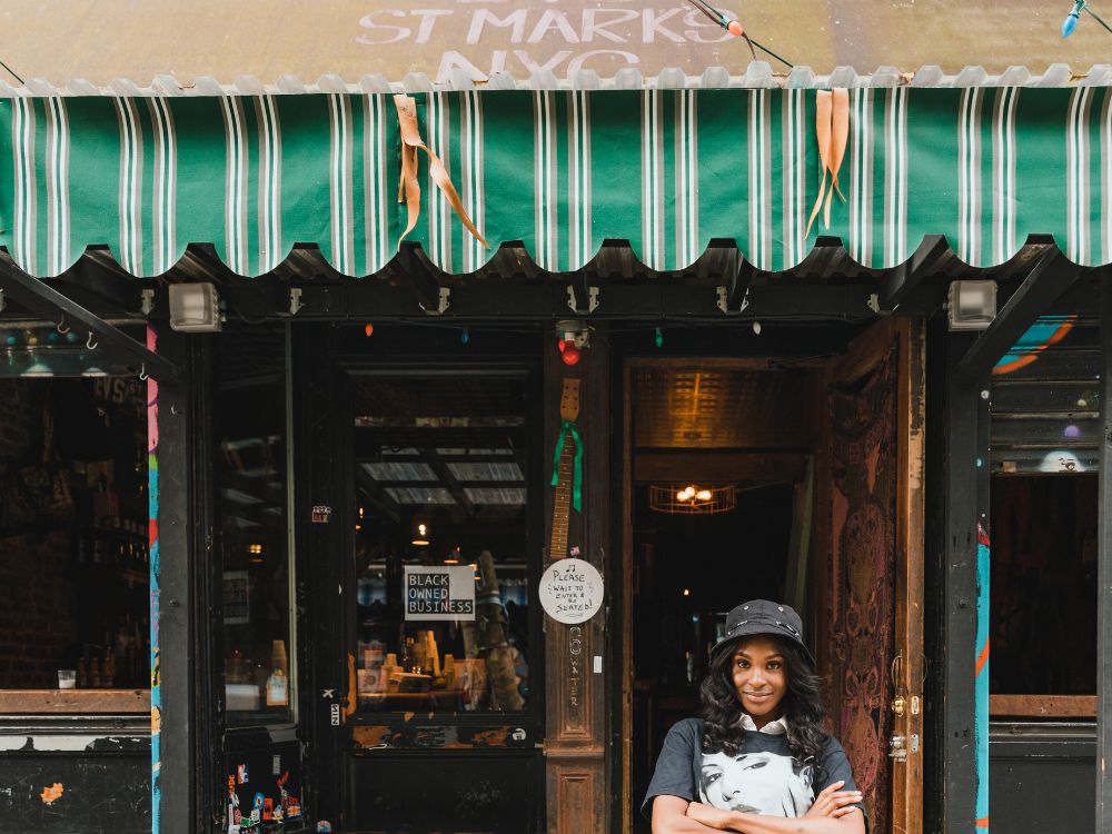
M 526 380 L 355 383 L 363 712 L 519 712 L 529 687 Z

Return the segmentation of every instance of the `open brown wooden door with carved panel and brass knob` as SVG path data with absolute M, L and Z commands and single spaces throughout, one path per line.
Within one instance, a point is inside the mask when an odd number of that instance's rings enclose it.
M 878 832 L 923 830 L 923 332 L 890 318 L 830 361 L 817 461 L 817 659 Z

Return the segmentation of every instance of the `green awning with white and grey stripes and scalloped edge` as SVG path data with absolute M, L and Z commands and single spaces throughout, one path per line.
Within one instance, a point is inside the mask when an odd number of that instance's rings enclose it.
M 733 238 L 764 270 L 818 234 L 862 265 L 904 261 L 941 234 L 971 266 L 1053 235 L 1074 261 L 1112 260 L 1112 88 L 858 88 L 830 229 L 807 218 L 822 172 L 815 91 L 485 90 L 418 93 L 421 136 L 492 245 L 523 241 L 574 270 L 605 238 L 652 269 Z M 406 226 L 390 96 L 57 97 L 0 101 L 0 242 L 56 276 L 90 246 L 128 272 L 211 244 L 234 271 L 316 244 L 339 271 L 381 269 Z M 419 158 L 408 239 L 448 272 L 483 248 Z

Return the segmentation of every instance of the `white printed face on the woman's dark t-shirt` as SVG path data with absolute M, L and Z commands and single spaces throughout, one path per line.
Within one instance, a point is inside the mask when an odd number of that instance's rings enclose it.
M 810 765 L 775 753 L 704 753 L 699 796 L 725 811 L 771 816 L 803 816 L 814 795 Z

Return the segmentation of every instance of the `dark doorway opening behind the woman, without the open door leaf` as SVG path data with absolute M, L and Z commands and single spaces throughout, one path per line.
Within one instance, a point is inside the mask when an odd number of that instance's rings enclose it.
M 743 598 L 806 609 L 822 366 L 631 363 L 631 793 Z M 649 831 L 638 813 L 629 831 Z

